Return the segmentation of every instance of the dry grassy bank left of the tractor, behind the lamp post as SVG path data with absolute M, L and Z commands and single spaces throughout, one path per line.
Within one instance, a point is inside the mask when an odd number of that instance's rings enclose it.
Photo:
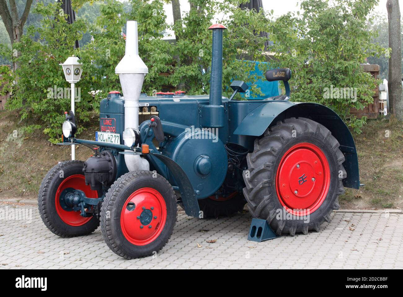
M 93 126 L 85 126 L 80 137 L 95 140 L 93 131 L 99 121 L 96 114 L 93 117 Z M 71 148 L 50 144 L 40 129 L 26 129 L 16 119 L 18 112 L 0 112 L 0 197 L 32 198 L 46 173 L 59 161 L 70 160 Z M 90 154 L 89 148 L 76 145 L 77 160 L 86 160 Z

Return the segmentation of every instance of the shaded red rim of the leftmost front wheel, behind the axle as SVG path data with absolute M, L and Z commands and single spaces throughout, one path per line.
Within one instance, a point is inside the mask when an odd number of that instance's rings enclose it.
M 85 177 L 84 175 L 71 175 L 66 177 L 62 183 L 60 183 L 57 192 L 56 192 L 56 212 L 59 215 L 60 219 L 64 221 L 64 223 L 71 226 L 81 226 L 87 223 L 92 217 L 83 217 L 80 215 L 81 211 L 66 211 L 60 205 L 60 194 L 63 190 L 67 188 L 73 188 L 76 190 L 81 190 L 85 193 L 85 196 L 88 198 L 98 198 L 98 192 L 91 190 L 89 185 L 85 185 Z

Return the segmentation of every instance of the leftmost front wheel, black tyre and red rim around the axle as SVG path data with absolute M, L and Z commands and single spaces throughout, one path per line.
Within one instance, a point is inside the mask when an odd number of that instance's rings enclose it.
M 83 161 L 61 162 L 50 169 L 39 187 L 39 214 L 46 227 L 58 236 L 91 234 L 100 225 L 98 218 L 82 217 L 80 211 L 73 211 L 70 208 L 66 211 L 60 204 L 60 195 L 68 188 L 81 190 L 89 198 L 98 198 L 98 192 L 85 185 L 83 167 Z

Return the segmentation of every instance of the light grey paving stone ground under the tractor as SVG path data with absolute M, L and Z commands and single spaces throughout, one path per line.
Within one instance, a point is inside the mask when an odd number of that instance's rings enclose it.
M 12 217 L 22 212 L 28 217 Z M 320 232 L 258 243 L 247 240 L 248 212 L 200 220 L 180 211 L 164 249 L 135 260 L 110 251 L 99 228 L 76 238 L 54 235 L 35 206 L 0 204 L 0 218 L 0 269 L 403 268 L 403 215 L 397 213 L 333 213 Z

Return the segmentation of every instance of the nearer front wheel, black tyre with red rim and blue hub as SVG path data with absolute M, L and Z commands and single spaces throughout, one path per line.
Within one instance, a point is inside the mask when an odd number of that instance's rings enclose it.
M 168 242 L 177 220 L 170 183 L 151 171 L 131 171 L 106 193 L 101 230 L 109 248 L 126 259 L 153 255 Z

